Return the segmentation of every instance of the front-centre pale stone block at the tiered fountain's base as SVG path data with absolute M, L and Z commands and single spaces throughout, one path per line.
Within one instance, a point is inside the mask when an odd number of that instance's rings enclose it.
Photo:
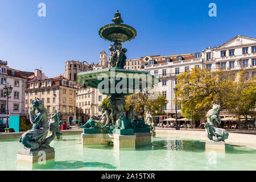
M 114 146 L 119 148 L 135 148 L 136 135 L 113 134 Z

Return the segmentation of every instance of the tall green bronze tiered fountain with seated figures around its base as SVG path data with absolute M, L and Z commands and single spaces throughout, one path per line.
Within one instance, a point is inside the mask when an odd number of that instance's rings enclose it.
M 114 42 L 110 45 L 109 63 L 112 68 L 77 75 L 77 83 L 84 88 L 91 87 L 100 90 L 100 93 L 110 96 L 110 109 L 106 105 L 102 108 L 102 117 L 91 117 L 82 128 L 82 144 L 108 144 L 114 146 L 135 147 L 135 143 L 151 143 L 150 125 L 134 114 L 133 106 L 125 109 L 124 96 L 135 92 L 143 92 L 159 82 L 158 78 L 143 71 L 126 70 L 126 48 L 122 42 L 134 39 L 136 30 L 123 23 L 121 14 L 117 12 L 112 19 L 114 23 L 107 24 L 98 31 L 101 38 Z

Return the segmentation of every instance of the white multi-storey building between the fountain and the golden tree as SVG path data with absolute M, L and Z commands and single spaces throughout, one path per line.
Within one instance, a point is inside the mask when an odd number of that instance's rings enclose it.
M 172 55 L 170 59 L 165 61 L 150 62 L 146 65 L 145 71 L 160 78 L 161 82 L 155 85 L 155 91 L 159 91 L 168 100 L 168 104 L 164 106 L 166 114 L 172 116 L 176 113 L 174 104 L 174 88 L 177 84 L 177 76 L 183 72 L 191 70 L 191 68 L 202 68 L 200 53 L 187 53 L 183 55 Z M 178 117 L 180 117 L 180 105 L 177 105 Z

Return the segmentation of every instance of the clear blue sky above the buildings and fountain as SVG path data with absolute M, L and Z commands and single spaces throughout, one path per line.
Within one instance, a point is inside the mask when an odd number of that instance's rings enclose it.
M 38 4 L 46 4 L 46 17 Z M 217 17 L 210 17 L 209 3 L 216 3 Z M 11 68 L 48 77 L 64 73 L 65 61 L 97 62 L 109 54 L 110 42 L 98 30 L 116 10 L 137 37 L 123 43 L 127 59 L 145 55 L 201 52 L 236 35 L 256 38 L 256 1 L 86 1 L 1 0 L 0 60 Z

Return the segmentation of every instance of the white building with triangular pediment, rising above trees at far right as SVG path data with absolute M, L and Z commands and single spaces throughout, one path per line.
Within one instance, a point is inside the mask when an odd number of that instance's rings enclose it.
M 216 48 L 204 49 L 203 68 L 224 69 L 236 73 L 246 69 L 249 77 L 256 73 L 256 39 L 238 35 Z

